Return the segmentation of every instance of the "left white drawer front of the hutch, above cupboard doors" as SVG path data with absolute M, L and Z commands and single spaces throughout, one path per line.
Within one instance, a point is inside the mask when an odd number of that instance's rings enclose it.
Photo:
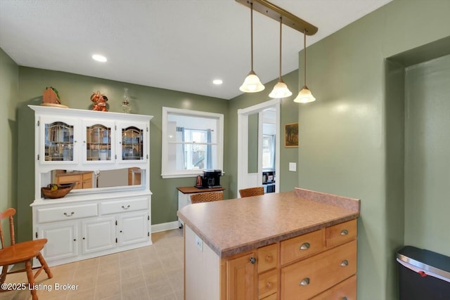
M 37 209 L 37 222 L 47 223 L 53 221 L 66 221 L 97 215 L 97 204 L 54 207 L 51 209 Z

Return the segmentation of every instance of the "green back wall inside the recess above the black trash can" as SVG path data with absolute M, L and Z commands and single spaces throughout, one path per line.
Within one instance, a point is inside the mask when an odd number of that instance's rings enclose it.
M 450 55 L 405 78 L 405 244 L 450 256 Z

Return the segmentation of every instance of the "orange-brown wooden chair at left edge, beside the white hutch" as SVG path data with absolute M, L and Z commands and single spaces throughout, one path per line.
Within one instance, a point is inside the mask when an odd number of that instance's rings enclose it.
M 6 280 L 6 275 L 11 273 L 18 272 L 27 272 L 27 278 L 29 282 L 29 286 L 34 286 L 34 279 L 37 278 L 41 270 L 44 269 L 45 273 L 49 278 L 52 278 L 51 270 L 49 266 L 47 266 L 44 257 L 41 255 L 41 250 L 44 249 L 44 245 L 47 242 L 47 239 L 40 240 L 31 240 L 27 242 L 18 242 L 15 243 L 14 237 L 14 224 L 13 224 L 13 216 L 15 215 L 15 209 L 6 209 L 4 212 L 0 212 L 0 240 L 1 240 L 1 249 L 0 249 L 0 266 L 3 267 L 0 275 L 0 284 L 3 284 Z M 11 245 L 5 247 L 4 236 L 3 236 L 3 228 L 1 228 L 1 221 L 3 219 L 9 218 L 9 230 L 11 235 Z M 41 263 L 40 267 L 32 268 L 32 259 L 36 257 Z M 8 266 L 14 265 L 15 263 L 25 263 L 25 269 L 15 270 L 12 272 L 8 272 Z M 36 274 L 33 275 L 33 269 L 37 269 Z M 0 289 L 0 292 L 5 292 L 4 289 Z M 32 299 L 37 300 L 36 289 L 30 289 L 32 294 Z

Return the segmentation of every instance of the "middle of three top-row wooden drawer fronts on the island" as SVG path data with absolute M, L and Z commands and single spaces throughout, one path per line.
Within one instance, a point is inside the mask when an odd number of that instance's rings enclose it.
M 321 252 L 325 249 L 325 229 L 293 237 L 281 242 L 281 264 Z

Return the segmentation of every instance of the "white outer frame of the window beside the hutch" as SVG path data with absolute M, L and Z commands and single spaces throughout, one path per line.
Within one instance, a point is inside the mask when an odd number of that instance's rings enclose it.
M 161 145 L 161 176 L 162 178 L 195 177 L 203 174 L 203 169 L 174 170 L 167 166 L 167 154 L 169 153 L 169 141 L 167 138 L 167 120 L 169 114 L 186 115 L 190 117 L 209 117 L 217 119 L 217 168 L 223 171 L 224 165 L 224 115 L 214 112 L 201 112 L 198 110 L 184 110 L 181 108 L 162 107 L 162 145 Z

